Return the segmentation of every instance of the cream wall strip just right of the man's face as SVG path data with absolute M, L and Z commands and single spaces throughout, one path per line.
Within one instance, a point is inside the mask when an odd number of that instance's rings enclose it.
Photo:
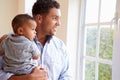
M 67 18 L 68 18 L 68 0 L 57 0 L 61 7 L 61 26 L 58 28 L 56 36 L 64 41 L 67 40 Z

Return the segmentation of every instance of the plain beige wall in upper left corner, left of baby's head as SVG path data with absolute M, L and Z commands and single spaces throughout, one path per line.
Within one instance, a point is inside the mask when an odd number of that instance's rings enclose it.
M 0 0 L 0 36 L 12 31 L 11 20 L 17 14 L 17 0 Z

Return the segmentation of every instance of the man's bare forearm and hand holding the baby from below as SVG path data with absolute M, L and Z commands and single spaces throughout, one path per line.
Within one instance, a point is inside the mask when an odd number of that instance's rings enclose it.
M 40 66 L 36 67 L 31 74 L 11 76 L 8 80 L 48 80 L 47 72 Z

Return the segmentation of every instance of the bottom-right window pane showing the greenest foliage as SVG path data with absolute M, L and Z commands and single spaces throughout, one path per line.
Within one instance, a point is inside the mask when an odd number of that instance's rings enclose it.
M 99 64 L 99 79 L 98 80 L 112 80 L 112 67 L 107 64 Z

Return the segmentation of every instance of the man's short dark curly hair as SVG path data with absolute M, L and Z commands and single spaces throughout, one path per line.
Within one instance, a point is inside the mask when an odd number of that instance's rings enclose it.
M 32 8 L 32 15 L 47 14 L 51 8 L 60 8 L 60 4 L 56 0 L 37 0 Z

